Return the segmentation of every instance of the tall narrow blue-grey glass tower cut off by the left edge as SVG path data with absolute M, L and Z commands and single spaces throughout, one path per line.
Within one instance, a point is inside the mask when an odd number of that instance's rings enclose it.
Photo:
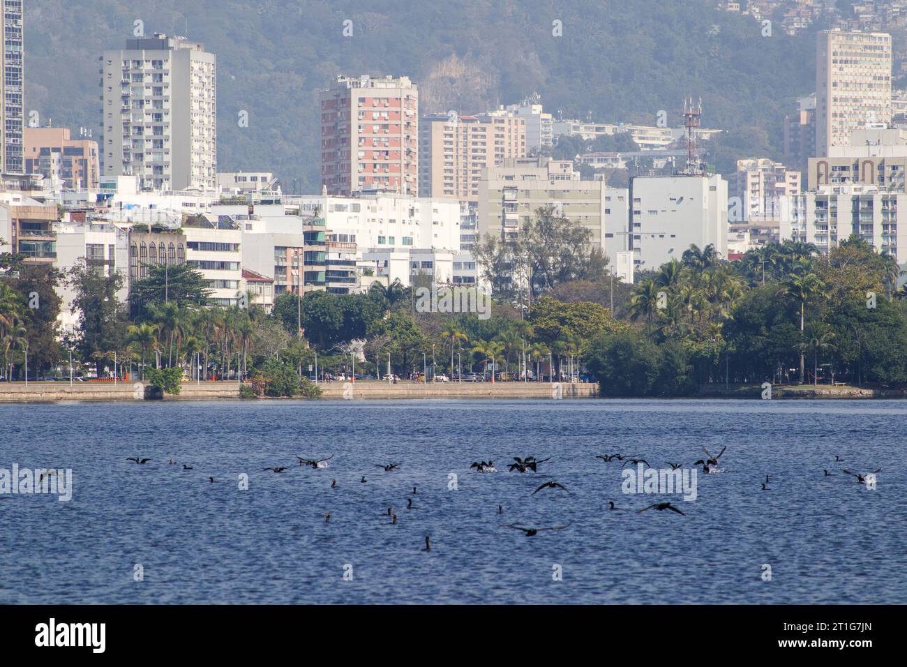
M 0 25 L 4 48 L 0 51 L 4 76 L 0 79 L 0 172 L 23 173 L 24 46 L 23 0 L 4 0 Z

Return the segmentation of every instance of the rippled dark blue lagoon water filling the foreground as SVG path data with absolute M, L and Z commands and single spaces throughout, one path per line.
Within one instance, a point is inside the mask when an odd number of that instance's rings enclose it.
M 907 603 L 905 426 L 904 401 L 0 406 L 0 468 L 73 470 L 70 502 L 0 495 L 0 603 Z M 595 458 L 726 445 L 693 502 L 624 495 Z M 513 456 L 551 461 L 521 475 Z M 499 473 L 470 471 L 489 458 Z M 883 470 L 869 490 L 841 467 Z M 532 495 L 549 480 L 571 493 Z

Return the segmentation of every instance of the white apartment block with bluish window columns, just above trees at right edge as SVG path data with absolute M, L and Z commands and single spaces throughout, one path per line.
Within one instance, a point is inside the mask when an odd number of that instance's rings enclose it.
M 907 262 L 907 194 L 874 185 L 823 185 L 788 198 L 781 239 L 813 243 L 821 252 L 856 235 L 898 264 Z

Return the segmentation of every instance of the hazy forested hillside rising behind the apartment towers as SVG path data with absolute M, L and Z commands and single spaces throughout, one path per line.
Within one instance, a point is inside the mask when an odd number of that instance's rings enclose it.
M 218 55 L 219 167 L 318 189 L 317 90 L 338 73 L 408 74 L 423 112 L 474 113 L 538 91 L 567 117 L 680 123 L 685 95 L 727 129 L 709 162 L 780 157 L 782 120 L 814 91 L 814 31 L 796 37 L 715 0 L 28 0 L 27 111 L 98 131 L 98 57 L 146 34 Z M 351 21 L 353 36 L 343 35 Z M 552 22 L 561 21 L 562 36 Z M 249 127 L 239 127 L 240 111 Z

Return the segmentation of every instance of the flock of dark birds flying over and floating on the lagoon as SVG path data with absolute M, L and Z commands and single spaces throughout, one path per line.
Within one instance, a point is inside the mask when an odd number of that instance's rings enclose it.
M 723 447 L 721 449 L 721 451 L 718 452 L 717 456 L 713 456 L 707 450 L 706 447 L 703 447 L 702 449 L 706 453 L 706 457 L 700 458 L 700 459 L 697 459 L 696 461 L 694 461 L 693 466 L 702 466 L 703 473 L 705 473 L 707 475 L 714 475 L 717 473 L 724 472 L 724 468 L 718 467 L 718 463 L 721 460 L 721 457 L 725 455 L 725 452 L 727 451 L 727 446 Z M 616 453 L 616 454 L 598 454 L 595 457 L 601 459 L 606 464 L 610 464 L 612 462 L 619 462 L 621 464 L 621 466 L 620 466 L 621 469 L 625 468 L 626 466 L 640 466 L 640 465 L 652 467 L 649 465 L 649 462 L 646 459 L 642 458 L 639 455 L 626 456 L 624 454 Z M 324 458 L 306 458 L 303 456 L 297 456 L 298 467 L 307 466 L 307 467 L 311 467 L 316 470 L 323 470 L 328 467 L 328 462 L 333 458 L 334 458 L 334 455 L 326 456 Z M 131 458 L 127 458 L 126 460 L 131 461 L 132 463 L 139 465 L 139 466 L 143 466 L 143 465 L 146 465 L 149 462 L 151 462 L 151 458 L 144 458 L 141 456 L 133 456 Z M 526 456 L 525 458 L 521 458 L 519 456 L 514 456 L 513 463 L 508 464 L 507 467 L 508 467 L 509 472 L 511 472 L 511 473 L 526 474 L 528 472 L 532 472 L 533 474 L 537 474 L 539 472 L 539 466 L 550 460 L 551 460 L 551 456 L 549 456 L 547 458 L 541 458 L 541 459 L 536 458 L 535 456 Z M 844 463 L 844 459 L 841 458 L 840 456 L 835 455 L 834 462 L 835 463 Z M 671 470 L 678 470 L 684 466 L 682 463 L 673 462 L 673 461 L 667 461 L 666 464 L 668 466 L 670 466 Z M 172 458 L 170 458 L 168 461 L 168 465 L 169 466 L 179 466 L 180 464 L 178 464 L 176 461 L 174 461 Z M 185 463 L 181 464 L 181 465 L 182 465 L 183 471 L 189 471 L 189 470 L 194 469 L 194 466 L 190 466 Z M 387 463 L 387 464 L 375 464 L 375 467 L 380 468 L 385 473 L 391 473 L 395 470 L 399 470 L 400 464 L 391 462 L 391 463 Z M 286 473 L 289 469 L 290 469 L 290 466 L 269 466 L 266 468 L 262 468 L 261 472 L 270 472 L 275 475 L 280 475 L 280 474 Z M 494 466 L 493 460 L 473 461 L 473 464 L 471 466 L 469 466 L 469 469 L 475 470 L 477 473 L 480 473 L 480 474 L 490 474 L 490 473 L 498 472 L 497 468 Z M 862 485 L 867 485 L 868 482 L 870 481 L 870 479 L 873 479 L 875 475 L 882 472 L 882 468 L 879 468 L 879 469 L 873 471 L 872 473 L 855 473 L 850 470 L 846 470 L 844 468 L 842 468 L 841 470 L 846 475 L 855 477 L 857 483 L 862 484 Z M 830 473 L 827 469 L 825 469 L 825 470 L 823 470 L 823 476 L 834 476 L 834 473 Z M 768 475 L 766 475 L 765 481 L 762 482 L 763 491 L 769 490 L 769 488 L 768 488 L 769 480 L 770 480 L 770 477 Z M 214 483 L 218 482 L 219 480 L 215 479 L 213 476 L 209 476 L 208 481 L 210 484 L 214 484 Z M 368 483 L 368 479 L 366 478 L 365 474 L 363 474 L 361 476 L 359 483 L 360 484 Z M 330 488 L 332 488 L 332 489 L 338 488 L 336 479 L 331 480 Z M 530 494 L 530 497 L 538 494 L 541 491 L 549 490 L 549 489 L 551 491 L 560 490 L 560 491 L 563 491 L 564 493 L 571 494 L 571 491 L 570 491 L 570 489 L 567 488 L 567 486 L 562 485 L 560 482 L 551 480 L 551 481 L 544 482 L 540 486 L 538 486 L 534 491 L 532 491 L 532 494 Z M 415 486 L 413 486 L 412 495 L 416 495 L 416 494 L 417 494 L 417 488 Z M 390 522 L 389 522 L 390 525 L 396 525 L 396 523 L 398 521 L 398 516 L 395 514 L 394 509 L 395 508 L 393 506 L 387 507 L 386 516 L 390 519 Z M 407 510 L 416 509 L 416 507 L 414 507 L 414 505 L 413 505 L 412 497 L 406 497 L 406 509 Z M 617 505 L 614 504 L 614 501 L 612 501 L 612 500 L 608 501 L 608 510 L 610 512 L 631 511 L 626 507 L 618 507 Z M 669 512 L 674 512 L 678 515 L 687 516 L 684 512 L 682 512 L 680 509 L 678 509 L 678 507 L 676 507 L 675 505 L 672 505 L 669 502 L 653 503 L 651 505 L 648 505 L 646 507 L 636 510 L 636 513 L 643 514 L 645 512 L 648 512 L 649 510 L 656 510 L 657 512 L 669 511 Z M 498 505 L 498 514 L 499 515 L 503 514 L 503 505 Z M 324 518 L 325 518 L 326 524 L 330 523 L 330 520 L 331 520 L 330 513 L 324 513 Z M 552 525 L 552 526 L 546 526 L 546 527 L 535 527 L 535 526 L 526 526 L 526 525 L 518 525 L 518 524 L 501 525 L 502 528 L 512 528 L 514 530 L 522 531 L 522 533 L 524 535 L 526 535 L 527 537 L 533 537 L 544 531 L 564 530 L 565 528 L 569 528 L 570 526 L 571 526 L 571 524 Z M 426 535 L 425 536 L 425 546 L 422 549 L 422 551 L 427 552 L 427 551 L 431 551 L 431 550 L 432 550 L 431 538 L 429 535 Z

